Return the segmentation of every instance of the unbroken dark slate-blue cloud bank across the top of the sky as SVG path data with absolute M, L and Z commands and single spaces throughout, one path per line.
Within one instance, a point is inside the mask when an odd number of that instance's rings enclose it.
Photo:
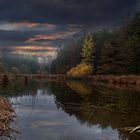
M 119 22 L 137 0 L 0 0 L 0 21 L 57 24 Z

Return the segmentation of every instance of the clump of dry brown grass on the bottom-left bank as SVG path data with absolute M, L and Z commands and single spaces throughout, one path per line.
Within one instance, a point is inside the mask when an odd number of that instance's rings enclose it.
M 11 122 L 15 121 L 15 111 L 12 105 L 0 96 L 0 135 L 13 137 L 17 130 L 11 128 Z

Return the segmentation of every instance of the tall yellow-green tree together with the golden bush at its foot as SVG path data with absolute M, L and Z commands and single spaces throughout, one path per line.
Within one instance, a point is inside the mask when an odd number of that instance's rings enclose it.
M 93 73 L 93 61 L 95 57 L 95 47 L 92 35 L 87 35 L 84 39 L 82 48 L 82 61 L 80 64 L 71 68 L 67 75 L 73 78 L 90 76 Z

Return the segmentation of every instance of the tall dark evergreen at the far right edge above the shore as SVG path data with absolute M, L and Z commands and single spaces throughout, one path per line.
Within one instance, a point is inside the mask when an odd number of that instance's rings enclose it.
M 129 70 L 130 73 L 140 74 L 140 12 L 128 25 L 127 39 L 124 44 L 130 51 Z

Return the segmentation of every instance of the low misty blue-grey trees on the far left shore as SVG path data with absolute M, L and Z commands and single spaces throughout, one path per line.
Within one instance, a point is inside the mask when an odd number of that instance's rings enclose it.
M 29 74 L 37 73 L 40 65 L 37 58 L 13 55 L 2 52 L 0 57 L 0 73 Z

